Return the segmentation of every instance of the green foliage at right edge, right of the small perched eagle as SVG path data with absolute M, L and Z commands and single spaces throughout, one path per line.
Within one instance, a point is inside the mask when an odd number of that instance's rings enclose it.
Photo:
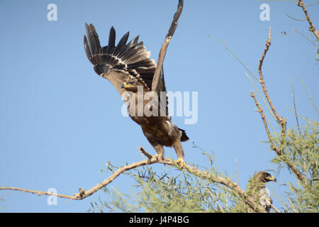
M 272 162 L 283 167 L 290 162 L 305 176 L 303 182 L 288 182 L 291 211 L 318 212 L 319 207 L 319 148 L 318 122 L 309 122 L 303 131 L 290 129 L 281 139 L 275 135 L 273 141 L 284 146 L 284 155 L 275 157 Z

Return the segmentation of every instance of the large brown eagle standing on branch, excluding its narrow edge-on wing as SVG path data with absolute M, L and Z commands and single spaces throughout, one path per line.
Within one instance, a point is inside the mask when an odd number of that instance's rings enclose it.
M 145 137 L 156 150 L 157 160 L 163 158 L 164 146 L 173 147 L 178 157 L 177 164 L 185 167 L 181 142 L 189 138 L 169 115 L 163 68 L 156 89 L 152 89 L 157 64 L 150 59 L 150 52 L 147 52 L 143 42 L 138 41 L 139 35 L 127 43 L 129 32 L 125 33 L 116 45 L 116 31 L 112 26 L 108 45 L 101 47 L 93 24 L 85 23 L 85 28 L 86 57 L 94 65 L 96 74 L 108 79 L 122 96 L 128 115 L 141 126 Z

